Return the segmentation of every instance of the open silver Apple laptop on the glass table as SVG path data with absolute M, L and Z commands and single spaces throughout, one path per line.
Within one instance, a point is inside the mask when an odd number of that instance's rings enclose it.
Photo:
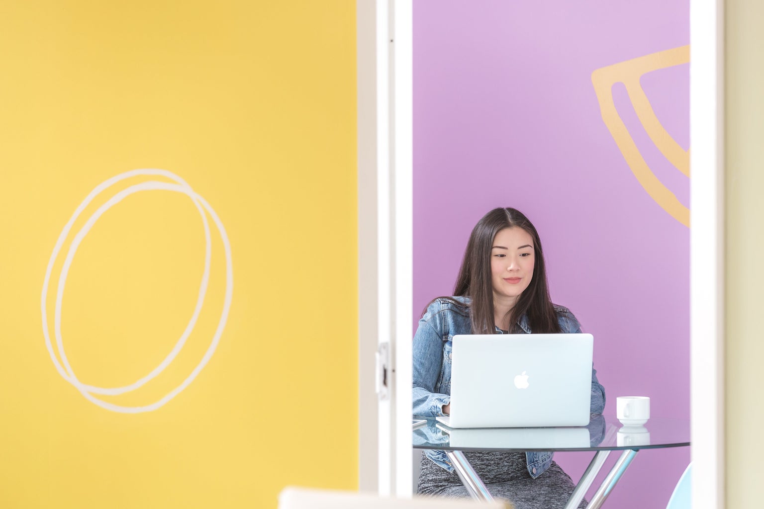
M 586 426 L 591 334 L 486 334 L 453 338 L 448 427 Z

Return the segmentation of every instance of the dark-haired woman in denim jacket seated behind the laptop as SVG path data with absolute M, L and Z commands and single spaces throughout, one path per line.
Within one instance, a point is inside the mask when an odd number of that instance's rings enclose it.
M 567 308 L 552 304 L 536 228 L 514 208 L 495 208 L 475 225 L 454 296 L 432 301 L 413 340 L 413 414 L 448 415 L 451 348 L 456 334 L 580 333 Z M 591 412 L 601 414 L 605 391 L 591 370 Z M 465 456 L 496 498 L 516 509 L 565 507 L 575 485 L 552 453 L 474 452 Z M 427 451 L 421 494 L 467 497 L 443 451 Z M 586 507 L 582 501 L 579 507 Z

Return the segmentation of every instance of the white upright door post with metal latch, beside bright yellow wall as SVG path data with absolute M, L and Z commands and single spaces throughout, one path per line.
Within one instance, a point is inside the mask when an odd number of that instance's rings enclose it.
M 406 497 L 412 492 L 413 5 L 357 0 L 356 9 L 359 487 Z M 377 400 L 372 359 L 384 344 L 386 398 Z

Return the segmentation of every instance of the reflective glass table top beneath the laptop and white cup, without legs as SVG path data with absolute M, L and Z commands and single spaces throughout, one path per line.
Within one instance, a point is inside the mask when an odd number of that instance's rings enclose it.
M 418 417 L 424 419 L 424 417 Z M 592 415 L 585 427 L 450 429 L 435 417 L 413 430 L 414 449 L 596 451 L 690 445 L 690 420 L 652 417 L 626 427 L 615 416 Z

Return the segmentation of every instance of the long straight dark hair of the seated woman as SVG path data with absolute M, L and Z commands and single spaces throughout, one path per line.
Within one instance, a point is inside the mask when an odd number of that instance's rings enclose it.
M 454 285 L 454 295 L 470 299 L 470 321 L 472 333 L 491 334 L 494 324 L 494 289 L 491 283 L 490 249 L 494 237 L 504 228 L 523 228 L 533 237 L 535 263 L 533 278 L 528 288 L 520 295 L 510 311 L 510 332 L 513 324 L 523 314 L 528 317 L 530 329 L 534 333 L 558 333 L 560 326 L 555 306 L 549 298 L 546 281 L 546 267 L 541 239 L 536 227 L 525 215 L 515 208 L 494 208 L 478 221 L 472 229 L 465 256 Z

